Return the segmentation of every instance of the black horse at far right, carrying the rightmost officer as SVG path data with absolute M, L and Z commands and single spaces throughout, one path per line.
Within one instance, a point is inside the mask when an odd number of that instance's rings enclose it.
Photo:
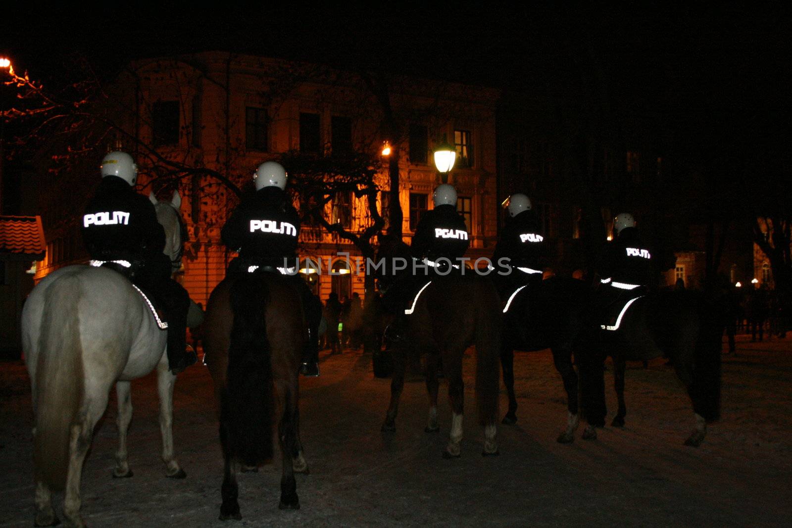
M 596 439 L 594 427 L 605 423 L 603 362 L 610 355 L 619 409 L 611 423 L 624 425 L 624 371 L 626 361 L 662 356 L 670 359 L 690 396 L 695 428 L 685 445 L 699 446 L 706 424 L 720 417 L 721 339 L 724 320 L 719 302 L 697 291 L 657 291 L 635 297 L 615 325 L 603 325 L 596 310 L 589 311 L 577 355 L 581 375 L 581 402 L 588 427 L 584 439 Z M 606 328 L 603 328 L 606 327 Z M 610 328 L 607 328 L 610 327 Z

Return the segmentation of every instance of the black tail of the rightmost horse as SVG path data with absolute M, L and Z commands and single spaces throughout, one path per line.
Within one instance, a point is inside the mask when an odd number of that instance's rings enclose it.
M 694 411 L 707 422 L 721 416 L 721 355 L 724 318 L 719 304 L 699 308 L 701 329 L 695 347 L 691 400 Z

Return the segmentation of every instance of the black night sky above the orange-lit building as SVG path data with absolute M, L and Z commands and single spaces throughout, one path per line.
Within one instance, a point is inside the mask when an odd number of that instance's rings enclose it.
M 416 6 L 165 10 L 4 8 L 0 54 L 63 82 L 84 56 L 111 76 L 129 59 L 219 49 L 584 97 L 658 114 L 703 158 L 783 154 L 790 14 L 747 7 Z M 593 86 L 592 84 L 597 84 Z M 760 152 L 762 154 L 760 154 Z M 709 154 L 707 156 L 706 154 Z

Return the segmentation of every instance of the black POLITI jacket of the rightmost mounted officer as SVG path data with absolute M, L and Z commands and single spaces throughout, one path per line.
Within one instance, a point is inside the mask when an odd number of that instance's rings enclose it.
M 605 249 L 600 277 L 614 282 L 649 285 L 653 282 L 652 253 L 642 242 L 638 230 L 625 227 Z

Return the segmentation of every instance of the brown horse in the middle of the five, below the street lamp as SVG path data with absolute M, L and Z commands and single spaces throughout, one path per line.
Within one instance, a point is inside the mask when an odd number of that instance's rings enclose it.
M 400 243 L 380 247 L 379 257 L 386 259 L 399 253 Z M 445 458 L 459 457 L 463 435 L 463 407 L 465 386 L 462 379 L 462 360 L 465 349 L 476 347 L 476 404 L 478 420 L 484 427 L 484 451 L 497 454 L 497 413 L 500 379 L 498 378 L 501 347 L 499 300 L 493 283 L 473 270 L 464 276 L 430 275 L 413 279 L 419 287 L 406 306 L 412 313 L 407 317 L 408 342 L 394 348 L 394 372 L 390 382 L 390 405 L 383 423 L 383 432 L 396 430 L 398 401 L 404 388 L 407 355 L 426 354 L 426 387 L 429 393 L 429 416 L 425 431 L 439 431 L 437 425 L 437 371 L 442 360 L 443 373 L 448 381 L 451 401 L 451 435 Z M 383 278 L 384 279 L 384 278 Z M 400 307 L 400 309 L 404 309 Z

